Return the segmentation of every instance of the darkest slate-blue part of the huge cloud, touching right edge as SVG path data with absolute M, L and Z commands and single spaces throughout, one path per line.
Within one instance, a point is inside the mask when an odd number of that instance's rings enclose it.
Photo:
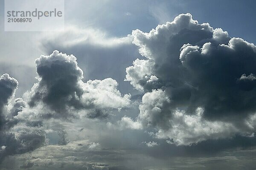
M 228 45 L 208 42 L 201 49 L 181 54 L 180 59 L 189 72 L 187 83 L 198 88 L 192 94 L 189 110 L 201 106 L 206 118 L 227 121 L 231 115 L 240 119 L 255 113 L 256 47 L 253 44 L 239 38 L 232 38 Z

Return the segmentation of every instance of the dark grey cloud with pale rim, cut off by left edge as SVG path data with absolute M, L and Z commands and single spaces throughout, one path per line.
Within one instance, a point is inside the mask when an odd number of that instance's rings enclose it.
M 23 99 L 14 99 L 17 85 L 17 80 L 9 74 L 3 74 L 0 78 L 0 161 L 8 155 L 35 150 L 42 146 L 45 140 L 44 130 L 38 127 L 29 128 L 26 125 L 17 126 L 20 119 L 15 116 L 26 107 Z M 14 126 L 16 130 L 13 129 Z

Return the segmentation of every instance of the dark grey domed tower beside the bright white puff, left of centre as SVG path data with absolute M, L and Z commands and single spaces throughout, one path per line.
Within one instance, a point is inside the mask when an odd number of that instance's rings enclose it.
M 49 57 L 41 56 L 36 59 L 35 63 L 40 80 L 35 86 L 35 91 L 32 92 L 30 106 L 35 106 L 36 102 L 42 100 L 58 112 L 64 111 L 67 104 L 75 108 L 82 107 L 76 96 L 81 97 L 83 93 L 79 86 L 83 72 L 77 66 L 74 56 L 62 55 L 54 51 Z

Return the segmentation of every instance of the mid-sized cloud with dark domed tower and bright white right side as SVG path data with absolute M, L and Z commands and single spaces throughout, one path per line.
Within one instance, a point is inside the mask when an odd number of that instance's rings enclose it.
M 49 117 L 76 116 L 74 112 L 84 109 L 90 118 L 105 117 L 109 109 L 126 107 L 130 102 L 130 95 L 122 96 L 112 78 L 84 83 L 83 71 L 73 55 L 53 51 L 49 56 L 41 55 L 35 63 L 38 83 L 26 98 L 30 107 L 45 105 L 54 111 Z

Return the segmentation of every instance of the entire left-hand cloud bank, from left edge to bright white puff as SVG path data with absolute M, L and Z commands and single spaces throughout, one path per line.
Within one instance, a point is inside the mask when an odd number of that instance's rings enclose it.
M 121 95 L 116 80 L 83 82 L 83 71 L 73 55 L 53 51 L 49 56 L 41 55 L 35 63 L 38 82 L 24 95 L 25 101 L 14 98 L 16 79 L 8 74 L 0 77 L 0 161 L 43 146 L 46 131 L 52 131 L 44 121 L 84 116 L 101 119 L 129 105 L 130 95 Z M 67 144 L 65 133 L 58 131 L 60 144 Z

